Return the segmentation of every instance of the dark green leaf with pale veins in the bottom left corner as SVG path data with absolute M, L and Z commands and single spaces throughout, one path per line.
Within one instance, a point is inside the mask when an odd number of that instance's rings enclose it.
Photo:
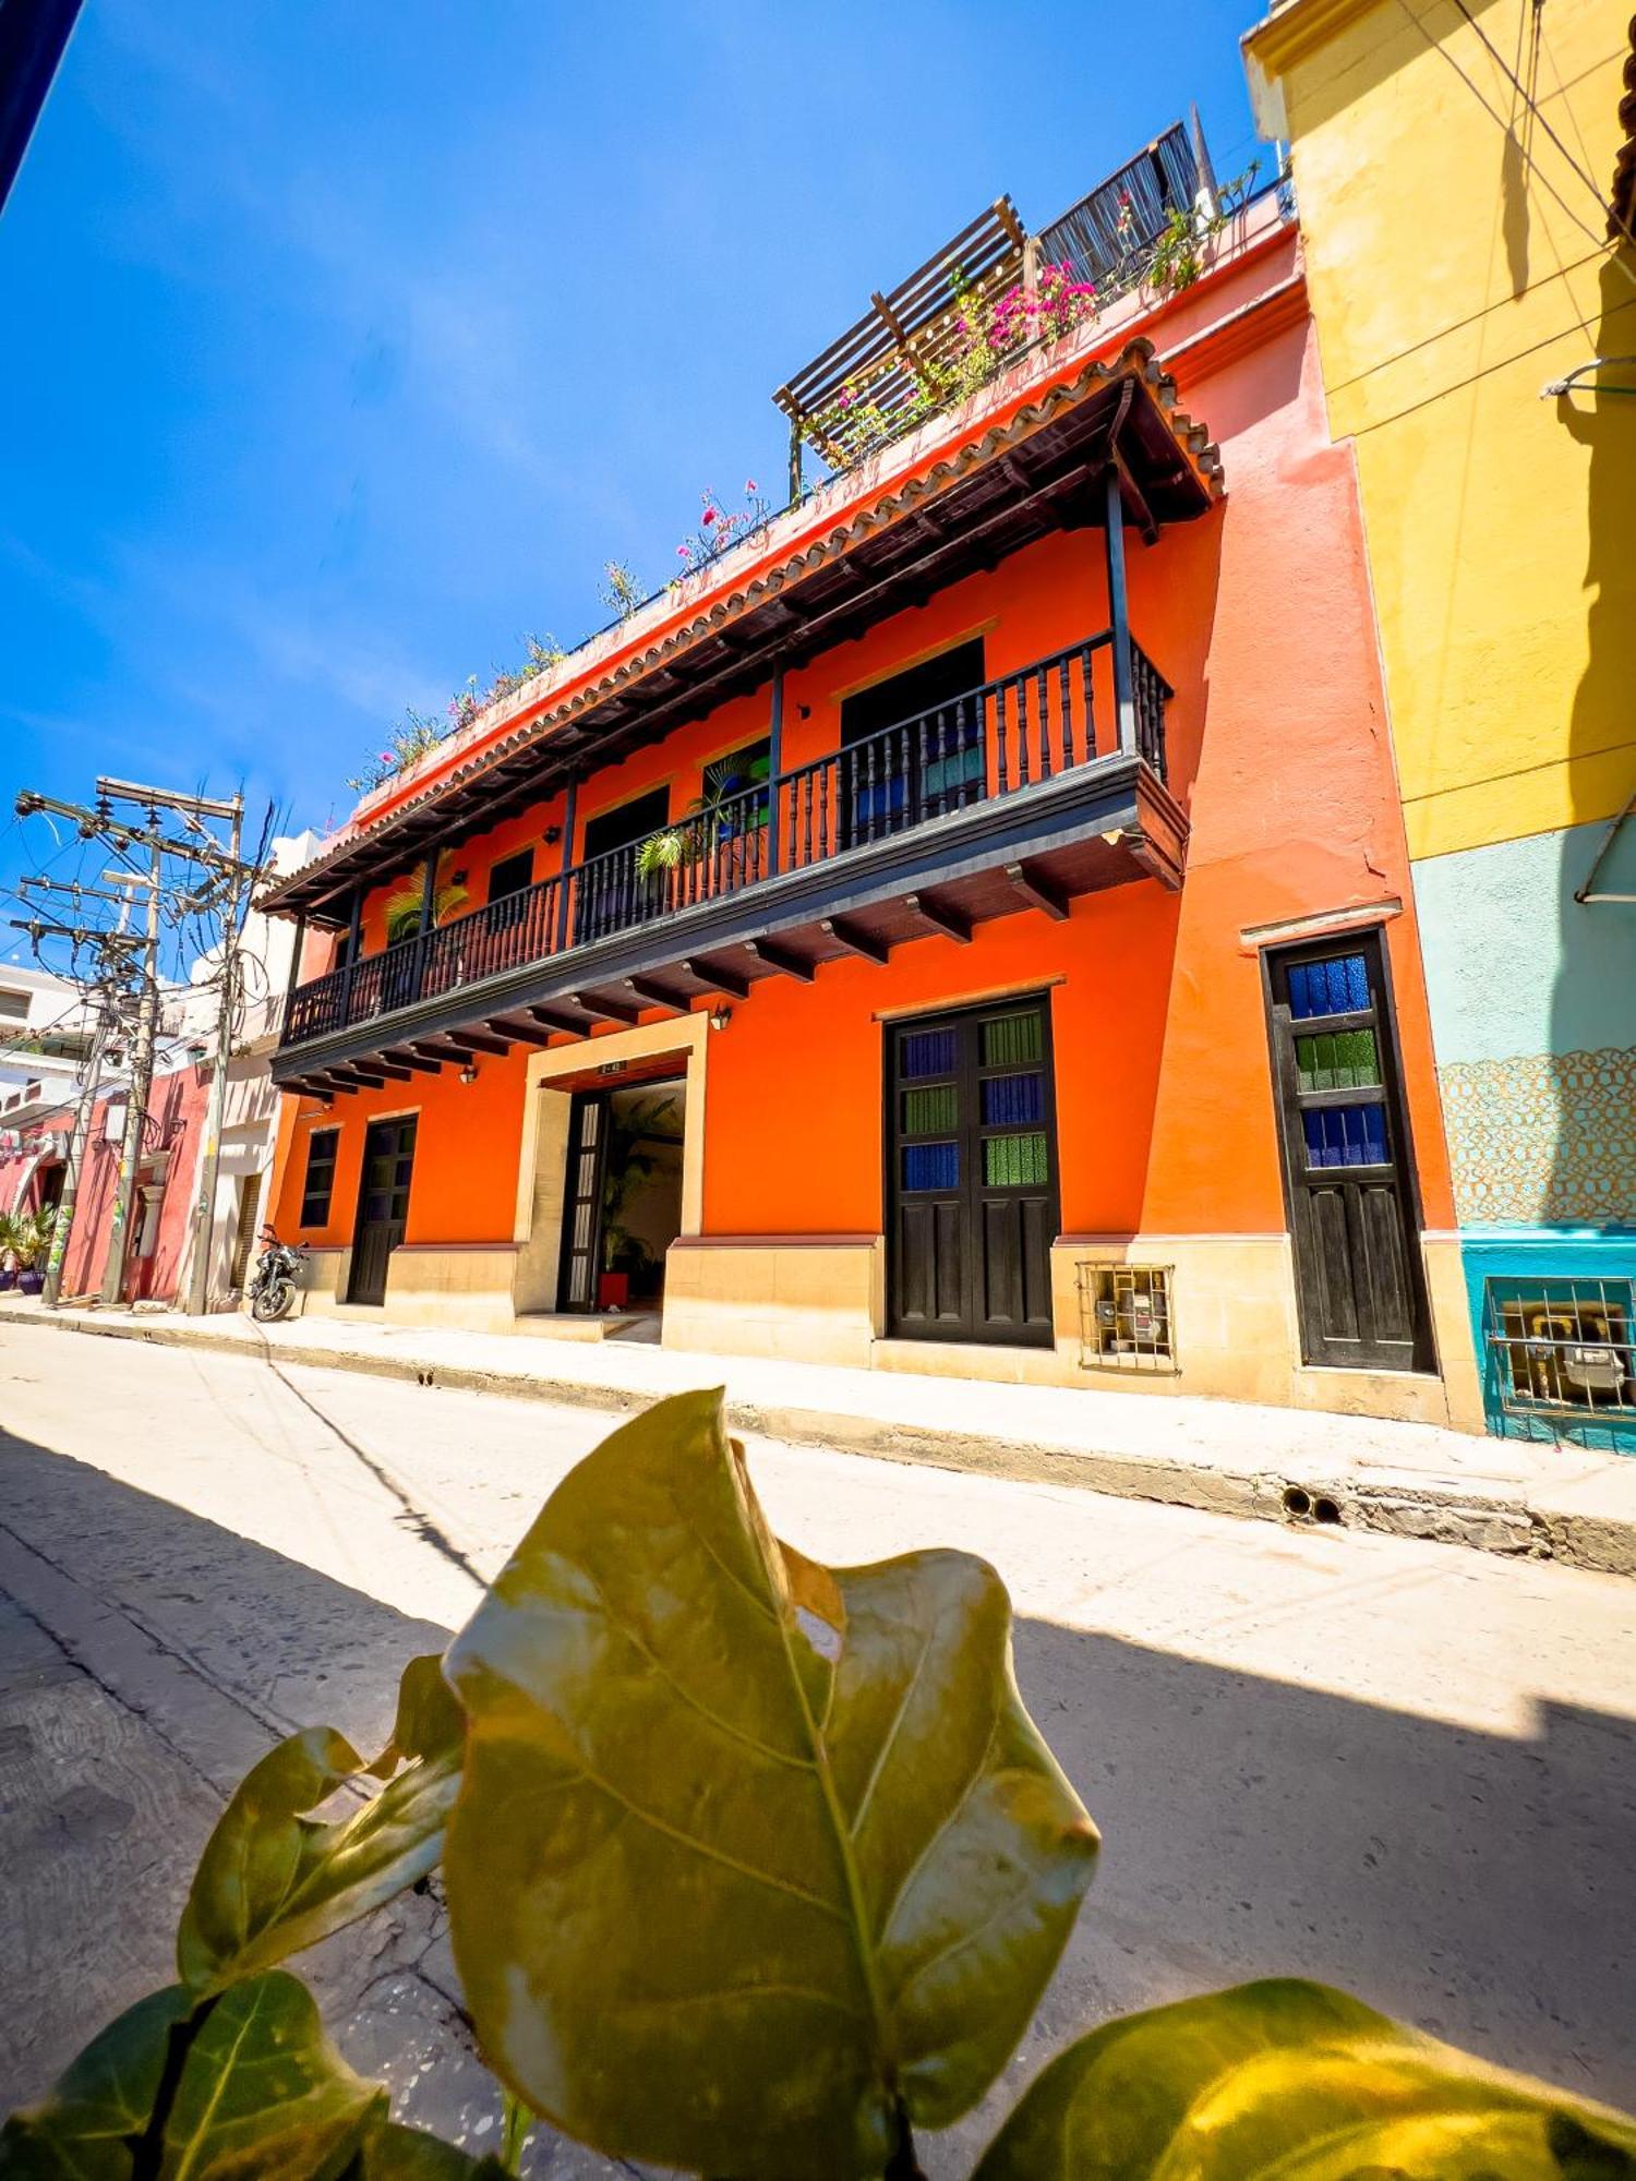
M 4 2181 L 323 2181 L 362 2155 L 386 2092 L 340 2059 L 305 1985 L 273 1972 L 192 2007 L 172 1987 L 111 2022 L 7 2122 Z

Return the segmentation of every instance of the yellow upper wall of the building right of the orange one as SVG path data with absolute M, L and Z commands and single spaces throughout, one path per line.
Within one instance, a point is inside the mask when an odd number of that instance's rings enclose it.
M 1470 13 L 1294 0 L 1248 39 L 1357 447 L 1411 857 L 1608 820 L 1636 783 L 1636 399 L 1542 397 L 1636 356 L 1605 236 L 1627 13 Z

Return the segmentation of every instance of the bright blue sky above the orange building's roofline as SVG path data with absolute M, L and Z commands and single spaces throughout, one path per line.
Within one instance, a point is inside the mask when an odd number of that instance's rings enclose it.
M 0 216 L 0 888 L 20 785 L 334 824 L 406 704 L 777 489 L 772 388 L 1001 190 L 1191 98 L 1248 164 L 1252 13 L 85 0 Z

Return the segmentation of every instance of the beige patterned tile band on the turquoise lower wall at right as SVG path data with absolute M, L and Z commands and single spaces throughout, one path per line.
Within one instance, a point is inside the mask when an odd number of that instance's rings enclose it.
M 1636 1049 L 1440 1069 L 1461 1226 L 1636 1226 Z

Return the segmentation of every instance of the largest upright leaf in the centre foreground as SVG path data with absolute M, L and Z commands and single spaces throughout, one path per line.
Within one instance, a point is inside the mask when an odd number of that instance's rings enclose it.
M 563 1481 L 447 1673 L 456 1961 L 534 2111 L 609 2155 L 835 2181 L 982 2096 L 1097 1849 L 993 1568 L 783 1551 L 720 1394 L 687 1394 Z

